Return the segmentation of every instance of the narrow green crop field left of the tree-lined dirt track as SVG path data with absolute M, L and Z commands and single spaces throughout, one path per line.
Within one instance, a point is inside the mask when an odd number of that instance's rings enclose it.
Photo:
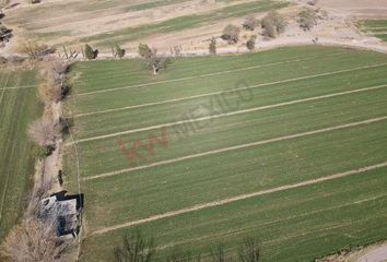
M 21 216 L 34 174 L 27 127 L 42 108 L 35 71 L 0 73 L 0 240 Z

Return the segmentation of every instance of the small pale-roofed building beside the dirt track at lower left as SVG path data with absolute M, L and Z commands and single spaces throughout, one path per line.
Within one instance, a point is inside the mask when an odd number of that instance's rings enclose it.
M 55 226 L 57 237 L 75 238 L 81 226 L 83 194 L 66 193 L 67 191 L 61 191 L 43 199 L 39 218 Z

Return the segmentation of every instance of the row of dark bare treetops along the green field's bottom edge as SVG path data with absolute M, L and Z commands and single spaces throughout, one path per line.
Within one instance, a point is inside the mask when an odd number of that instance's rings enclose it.
M 227 254 L 222 243 L 213 245 L 209 249 L 209 253 L 213 262 L 260 261 L 258 241 L 254 238 L 244 239 L 238 247 L 236 257 Z M 140 231 L 127 234 L 121 247 L 115 250 L 116 262 L 152 262 L 155 260 L 156 254 L 157 250 L 154 240 L 143 237 Z M 181 252 L 176 249 L 165 259 L 166 262 L 200 262 L 202 260 L 200 253 Z

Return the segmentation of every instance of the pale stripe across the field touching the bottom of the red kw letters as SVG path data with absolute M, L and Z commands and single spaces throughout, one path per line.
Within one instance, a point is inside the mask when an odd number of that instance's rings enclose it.
M 249 147 L 254 147 L 254 146 L 258 146 L 258 145 L 265 145 L 265 144 L 285 141 L 285 140 L 298 139 L 298 138 L 326 133 L 326 132 L 341 130 L 341 129 L 354 128 L 354 127 L 380 122 L 380 121 L 385 121 L 385 120 L 387 120 L 387 116 L 379 117 L 379 118 L 372 118 L 372 119 L 367 119 L 367 120 L 363 120 L 363 121 L 359 121 L 359 122 L 340 124 L 340 126 L 325 128 L 325 129 L 318 129 L 318 130 L 296 133 L 296 134 L 279 136 L 279 138 L 269 139 L 269 140 L 261 140 L 261 141 L 251 142 L 251 143 L 247 143 L 247 144 L 241 144 L 241 145 L 234 145 L 234 146 L 228 146 L 228 147 L 219 148 L 219 150 L 212 150 L 212 151 L 208 151 L 208 152 L 203 152 L 203 153 L 181 156 L 181 157 L 167 159 L 167 160 L 155 162 L 152 164 L 142 165 L 142 166 L 138 166 L 138 167 L 130 167 L 130 168 L 126 168 L 126 169 L 121 169 L 121 170 L 117 170 L 117 171 L 105 172 L 105 174 L 101 174 L 101 175 L 85 177 L 85 178 L 83 178 L 83 180 L 89 181 L 89 180 L 94 180 L 94 179 L 98 179 L 98 178 L 106 178 L 106 177 L 117 176 L 117 175 L 121 175 L 121 174 L 127 174 L 130 171 L 142 170 L 142 169 L 146 169 L 146 168 L 151 168 L 151 167 L 174 164 L 177 162 L 188 160 L 188 159 L 192 159 L 192 158 L 197 158 L 197 157 L 215 155 L 215 154 L 225 153 L 225 152 L 235 151 L 235 150 L 249 148 Z

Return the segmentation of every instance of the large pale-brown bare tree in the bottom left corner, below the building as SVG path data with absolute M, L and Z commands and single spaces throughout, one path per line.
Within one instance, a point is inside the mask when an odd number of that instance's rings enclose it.
M 26 219 L 13 227 L 0 247 L 4 262 L 61 262 L 69 246 L 56 235 L 56 223 Z

